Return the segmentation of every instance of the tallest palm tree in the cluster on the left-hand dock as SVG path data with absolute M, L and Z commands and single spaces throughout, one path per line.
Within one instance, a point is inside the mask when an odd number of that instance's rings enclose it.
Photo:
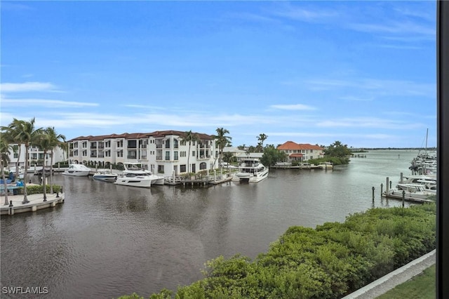
M 13 135 L 14 140 L 18 140 L 22 145 L 25 145 L 25 173 L 28 171 L 28 151 L 29 146 L 34 145 L 37 141 L 36 138 L 39 136 L 42 128 L 34 128 L 35 119 L 30 121 L 18 121 L 17 124 L 12 126 L 12 130 L 15 133 Z M 29 203 L 27 198 L 27 180 L 23 180 L 23 201 L 22 204 Z

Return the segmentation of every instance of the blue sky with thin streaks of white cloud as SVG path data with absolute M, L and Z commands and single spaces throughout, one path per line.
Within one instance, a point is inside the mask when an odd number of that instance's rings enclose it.
M 436 1 L 1 1 L 1 126 L 436 145 Z

